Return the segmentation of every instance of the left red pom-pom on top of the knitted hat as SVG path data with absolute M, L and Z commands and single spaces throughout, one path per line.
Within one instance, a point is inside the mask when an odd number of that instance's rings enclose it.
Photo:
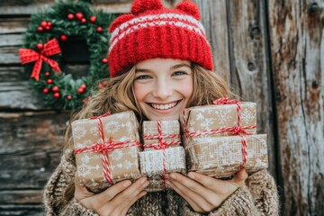
M 131 14 L 138 15 L 149 10 L 159 10 L 163 8 L 160 0 L 135 0 L 131 4 Z

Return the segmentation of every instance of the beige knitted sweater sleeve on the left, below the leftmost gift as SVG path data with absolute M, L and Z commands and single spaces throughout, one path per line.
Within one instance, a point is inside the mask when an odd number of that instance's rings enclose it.
M 71 154 L 64 155 L 44 189 L 44 207 L 47 215 L 97 215 L 75 198 L 67 200 L 66 193 L 69 185 L 74 184 L 75 173 L 76 166 Z

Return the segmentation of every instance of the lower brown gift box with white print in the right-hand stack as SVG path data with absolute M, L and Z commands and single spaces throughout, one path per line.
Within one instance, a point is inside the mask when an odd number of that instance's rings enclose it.
M 266 134 L 193 139 L 185 148 L 189 171 L 214 177 L 229 177 L 243 164 L 242 139 L 247 143 L 247 173 L 267 168 Z

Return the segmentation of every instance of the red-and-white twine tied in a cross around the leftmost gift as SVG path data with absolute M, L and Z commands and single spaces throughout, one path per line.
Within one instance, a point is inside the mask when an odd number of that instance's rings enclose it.
M 108 139 L 108 141 L 105 141 L 104 133 L 103 133 L 103 121 L 102 118 L 110 115 L 111 112 L 106 112 L 103 115 L 97 116 L 97 117 L 91 117 L 90 119 L 97 119 L 98 120 L 98 130 L 100 133 L 101 143 L 94 143 L 93 145 L 85 148 L 77 148 L 74 151 L 74 154 L 79 154 L 83 152 L 97 152 L 102 153 L 103 157 L 103 175 L 106 181 L 109 184 L 113 184 L 112 182 L 112 175 L 109 168 L 109 160 L 108 160 L 108 152 L 112 152 L 115 149 L 119 148 L 130 148 L 133 146 L 140 147 L 140 143 L 138 140 L 125 140 L 121 142 L 115 142 L 112 137 Z M 126 143 L 131 143 L 129 145 L 125 145 Z

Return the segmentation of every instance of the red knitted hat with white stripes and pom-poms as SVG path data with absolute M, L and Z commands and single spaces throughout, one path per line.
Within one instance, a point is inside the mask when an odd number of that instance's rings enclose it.
M 211 47 L 199 19 L 191 1 L 166 9 L 160 0 L 135 0 L 131 14 L 118 17 L 109 30 L 111 76 L 149 58 L 189 60 L 212 70 Z

